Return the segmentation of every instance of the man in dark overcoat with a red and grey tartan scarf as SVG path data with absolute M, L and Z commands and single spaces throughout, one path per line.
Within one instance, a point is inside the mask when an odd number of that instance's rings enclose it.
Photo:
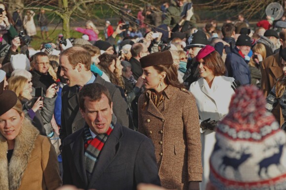
M 107 88 L 87 84 L 78 102 L 85 125 L 63 142 L 63 184 L 85 190 L 136 190 L 139 183 L 160 186 L 152 141 L 116 121 Z

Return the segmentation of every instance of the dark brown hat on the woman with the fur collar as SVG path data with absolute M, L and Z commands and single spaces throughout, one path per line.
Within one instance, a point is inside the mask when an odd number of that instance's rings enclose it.
M 3 90 L 4 81 L 0 82 L 0 115 L 6 113 L 17 103 L 17 95 L 12 90 Z

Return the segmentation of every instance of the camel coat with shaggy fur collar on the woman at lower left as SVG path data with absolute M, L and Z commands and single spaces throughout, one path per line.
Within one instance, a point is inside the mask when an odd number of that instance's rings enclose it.
M 6 139 L 0 135 L 0 190 L 55 190 L 62 185 L 50 140 L 24 120 L 8 165 Z

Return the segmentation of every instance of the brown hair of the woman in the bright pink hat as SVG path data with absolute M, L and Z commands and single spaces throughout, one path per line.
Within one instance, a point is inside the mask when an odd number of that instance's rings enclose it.
M 203 59 L 205 61 L 205 65 L 213 71 L 214 76 L 222 76 L 225 74 L 225 65 L 220 54 L 216 51 L 208 54 Z

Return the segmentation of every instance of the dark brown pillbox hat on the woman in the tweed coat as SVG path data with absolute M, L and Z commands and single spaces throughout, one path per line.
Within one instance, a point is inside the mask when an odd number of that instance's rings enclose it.
M 140 58 L 141 67 L 150 67 L 154 65 L 171 65 L 173 64 L 173 57 L 169 50 L 164 52 L 156 52 L 148 54 Z

